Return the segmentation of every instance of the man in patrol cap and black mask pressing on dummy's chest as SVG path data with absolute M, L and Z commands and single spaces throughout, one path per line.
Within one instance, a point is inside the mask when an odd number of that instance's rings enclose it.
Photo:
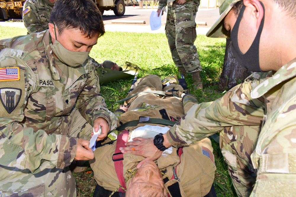
M 207 36 L 231 37 L 239 64 L 256 72 L 220 99 L 194 105 L 163 145 L 184 146 L 220 131 L 238 196 L 294 196 L 296 1 L 220 0 L 219 10 Z M 146 157 L 138 167 L 161 155 L 153 139 L 135 140 L 122 152 Z

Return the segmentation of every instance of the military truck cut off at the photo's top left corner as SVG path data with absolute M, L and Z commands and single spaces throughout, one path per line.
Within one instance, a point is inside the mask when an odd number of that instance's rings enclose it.
M 0 19 L 22 19 L 25 0 L 0 0 Z

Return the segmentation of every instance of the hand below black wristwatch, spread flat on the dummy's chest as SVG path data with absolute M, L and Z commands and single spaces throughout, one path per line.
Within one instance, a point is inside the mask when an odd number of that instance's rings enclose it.
M 162 154 L 162 151 L 158 150 L 156 146 L 153 144 L 153 138 L 136 137 L 133 138 L 133 141 L 125 143 L 125 145 L 127 147 L 119 148 L 119 150 L 123 154 L 131 153 L 142 157 L 146 157 L 146 159 L 139 162 L 139 164 L 137 165 L 138 169 L 144 162 L 155 161 Z

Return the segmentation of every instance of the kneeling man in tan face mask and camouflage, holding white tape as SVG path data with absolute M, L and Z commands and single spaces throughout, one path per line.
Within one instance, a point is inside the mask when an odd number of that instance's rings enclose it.
M 0 41 L 0 196 L 76 196 L 67 166 L 94 158 L 93 129 L 116 126 L 88 56 L 102 15 L 91 0 L 56 4 L 49 30 Z

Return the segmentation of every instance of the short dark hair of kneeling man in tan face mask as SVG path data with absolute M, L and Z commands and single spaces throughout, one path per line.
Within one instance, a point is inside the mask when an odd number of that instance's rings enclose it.
M 92 0 L 57 0 L 50 14 L 59 34 L 64 29 L 79 29 L 86 36 L 104 35 L 102 14 Z

